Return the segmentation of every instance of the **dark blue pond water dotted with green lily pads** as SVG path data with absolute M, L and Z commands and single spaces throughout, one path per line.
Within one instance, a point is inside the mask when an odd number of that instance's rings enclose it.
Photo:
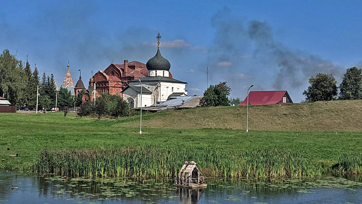
M 173 187 L 171 179 L 71 179 L 0 171 L 0 203 L 362 203 L 358 177 L 206 181 L 207 188 L 190 190 Z

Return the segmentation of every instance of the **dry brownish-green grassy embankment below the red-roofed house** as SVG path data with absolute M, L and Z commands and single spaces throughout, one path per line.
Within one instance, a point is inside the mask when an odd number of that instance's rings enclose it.
M 245 129 L 246 106 L 145 114 L 143 127 Z M 249 106 L 249 130 L 362 131 L 362 100 Z M 139 120 L 122 126 L 139 125 Z

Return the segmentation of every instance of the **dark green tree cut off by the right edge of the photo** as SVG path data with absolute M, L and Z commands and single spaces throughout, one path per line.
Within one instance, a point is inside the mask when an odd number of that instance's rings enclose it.
M 362 99 L 362 70 L 353 66 L 348 68 L 339 86 L 341 100 Z

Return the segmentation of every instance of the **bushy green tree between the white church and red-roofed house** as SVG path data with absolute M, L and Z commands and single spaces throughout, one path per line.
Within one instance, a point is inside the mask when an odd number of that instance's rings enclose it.
M 231 88 L 226 82 L 220 82 L 217 85 L 210 85 L 204 92 L 204 97 L 200 100 L 200 105 L 207 106 L 227 106 L 229 104 L 228 95 Z

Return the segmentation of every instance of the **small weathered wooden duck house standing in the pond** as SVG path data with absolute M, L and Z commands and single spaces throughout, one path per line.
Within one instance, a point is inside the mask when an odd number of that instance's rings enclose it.
M 200 169 L 197 168 L 196 162 L 191 161 L 184 163 L 184 166 L 181 168 L 176 177 L 176 183 L 174 186 L 184 188 L 200 188 L 207 186 L 207 184 L 204 182 L 204 175 L 202 175 Z

